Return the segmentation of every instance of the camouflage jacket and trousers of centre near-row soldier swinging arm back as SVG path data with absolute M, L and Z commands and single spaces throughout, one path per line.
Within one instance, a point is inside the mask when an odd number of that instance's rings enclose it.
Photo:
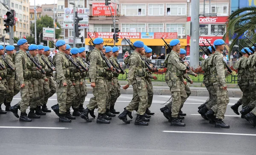
M 132 112 L 138 107 L 138 115 L 144 115 L 148 104 L 148 92 L 144 78 L 147 68 L 144 68 L 144 66 L 145 63 L 141 59 L 140 54 L 134 51 L 129 59 L 128 74 L 128 85 L 132 84 L 134 94 L 126 110 Z

